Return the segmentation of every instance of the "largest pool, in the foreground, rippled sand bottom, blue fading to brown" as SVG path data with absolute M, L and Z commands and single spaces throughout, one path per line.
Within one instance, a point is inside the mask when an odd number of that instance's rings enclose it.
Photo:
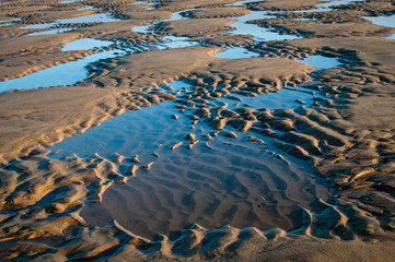
M 189 87 L 181 81 L 169 86 L 175 92 Z M 283 94 L 274 95 L 282 100 Z M 176 105 L 165 102 L 107 120 L 54 145 L 53 152 L 61 152 L 53 157 L 72 154 L 86 157 L 93 153 L 108 157 L 118 153 L 130 160 L 138 155 L 140 163 L 136 165 L 154 162 L 149 171 L 139 170 L 136 178 L 111 187 L 103 195 L 103 206 L 112 217 L 144 237 L 169 235 L 191 223 L 207 228 L 225 224 L 259 229 L 295 228 L 301 223 L 300 206 L 309 206 L 317 195 L 326 198 L 324 180 L 313 181 L 314 172 L 305 163 L 284 153 L 278 157 L 274 152 L 279 151 L 269 144 L 268 138 L 226 127 L 224 131 L 237 133 L 236 139 L 220 133 L 208 142 L 207 134 L 213 130 L 204 121 L 190 129 L 191 120 Z M 174 115 L 178 118 L 174 119 Z M 200 141 L 193 150 L 187 148 L 188 133 Z M 268 144 L 246 142 L 251 135 Z M 179 147 L 171 150 L 179 142 L 183 143 Z M 312 193 L 300 190 L 305 188 Z M 89 209 L 83 212 L 88 221 L 90 212 Z

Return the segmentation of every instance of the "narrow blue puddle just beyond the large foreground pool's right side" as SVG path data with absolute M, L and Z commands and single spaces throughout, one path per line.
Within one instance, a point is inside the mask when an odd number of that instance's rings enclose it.
M 253 107 L 255 109 L 295 109 L 301 105 L 311 106 L 314 93 L 302 87 L 283 87 L 277 93 L 269 92 L 265 95 L 244 96 L 232 93 L 229 96 L 217 98 L 220 103 L 226 103 L 226 108 L 234 110 L 239 107 Z M 218 104 L 218 103 L 217 103 Z M 221 106 L 220 104 L 218 104 Z

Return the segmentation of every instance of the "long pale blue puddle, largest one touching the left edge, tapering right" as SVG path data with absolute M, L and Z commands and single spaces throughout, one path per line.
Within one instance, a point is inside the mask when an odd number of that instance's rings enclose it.
M 0 92 L 11 90 L 34 90 L 37 87 L 71 85 L 88 76 L 85 67 L 89 63 L 96 62 L 101 59 L 115 58 L 123 56 L 119 50 L 97 52 L 77 61 L 58 64 L 53 68 L 44 69 L 42 71 L 0 82 Z

